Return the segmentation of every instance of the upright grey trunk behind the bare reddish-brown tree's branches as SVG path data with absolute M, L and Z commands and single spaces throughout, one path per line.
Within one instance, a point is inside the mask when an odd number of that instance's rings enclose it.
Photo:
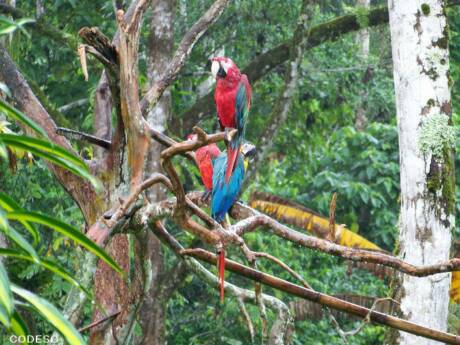
M 149 88 L 158 82 L 160 74 L 168 67 L 174 44 L 173 18 L 174 0 L 152 0 L 152 18 L 148 42 L 147 76 Z M 163 133 L 171 117 L 171 92 L 166 90 L 157 105 L 148 113 L 147 121 L 155 130 Z M 163 172 L 160 164 L 162 146 L 152 142 L 146 161 L 146 178 L 154 172 Z M 166 197 L 166 191 L 160 184 L 148 191 L 150 202 Z M 145 279 L 144 302 L 140 310 L 142 336 L 136 338 L 136 344 L 165 344 L 166 304 L 160 295 L 160 279 L 165 275 L 161 243 L 152 233 L 146 234 L 146 257 L 144 258 Z

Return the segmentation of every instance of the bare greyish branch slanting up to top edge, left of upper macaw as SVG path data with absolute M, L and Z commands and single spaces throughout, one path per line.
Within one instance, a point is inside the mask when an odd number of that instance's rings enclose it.
M 182 67 L 185 65 L 194 45 L 206 30 L 219 19 L 230 0 L 216 0 L 203 16 L 190 28 L 182 38 L 174 56 L 160 80 L 155 83 L 144 95 L 141 102 L 142 113 L 148 111 L 158 102 L 164 90 L 177 78 Z

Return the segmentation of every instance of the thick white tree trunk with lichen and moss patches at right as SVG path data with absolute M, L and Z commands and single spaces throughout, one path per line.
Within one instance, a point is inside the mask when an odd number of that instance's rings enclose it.
M 447 23 L 441 0 L 389 0 L 401 164 L 400 255 L 415 265 L 448 259 L 454 227 L 454 133 Z M 403 276 L 401 312 L 446 330 L 450 274 Z M 438 344 L 399 333 L 398 344 Z

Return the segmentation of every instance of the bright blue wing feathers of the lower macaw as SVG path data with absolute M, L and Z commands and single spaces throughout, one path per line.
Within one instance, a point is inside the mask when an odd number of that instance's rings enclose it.
M 227 154 L 223 153 L 214 161 L 212 178 L 211 215 L 218 222 L 225 218 L 225 214 L 238 199 L 244 179 L 244 159 L 242 155 L 238 155 L 235 169 L 228 183 L 225 183 L 226 169 Z

